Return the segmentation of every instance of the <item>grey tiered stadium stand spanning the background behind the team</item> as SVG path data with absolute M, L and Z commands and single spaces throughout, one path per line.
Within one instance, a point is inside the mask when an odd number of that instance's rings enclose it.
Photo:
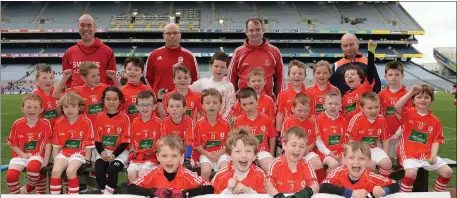
M 138 13 L 135 20 L 132 21 L 133 12 Z M 1 29 L 4 45 L 1 53 L 2 62 L 6 62 L 1 68 L 2 91 L 30 92 L 35 77 L 34 68 L 31 65 L 37 62 L 50 63 L 55 71 L 55 81 L 58 82 L 62 78 L 60 57 L 48 55 L 39 58 L 16 57 L 15 54 L 44 55 L 49 53 L 58 56 L 64 53 L 75 42 L 56 42 L 52 39 L 79 39 L 78 34 L 69 34 L 65 31 L 77 30 L 77 19 L 82 14 L 87 13 L 95 18 L 98 29 L 103 31 L 103 33 L 97 33 L 97 37 L 119 39 L 116 42 L 105 43 L 113 49 L 117 56 L 117 75 L 121 76 L 122 63 L 130 53 L 147 56 L 151 51 L 163 45 L 162 42 L 144 42 L 142 39 L 161 39 L 163 26 L 169 23 L 169 16 L 175 16 L 177 12 L 181 13 L 179 25 L 182 28 L 182 38 L 201 39 L 196 42 L 183 43 L 183 47 L 192 51 L 196 56 L 200 77 L 210 77 L 209 56 L 211 53 L 221 50 L 229 54 L 233 53 L 245 38 L 243 32 L 245 20 L 258 16 L 267 22 L 265 35 L 283 53 L 283 71 L 286 80 L 287 65 L 292 59 L 297 58 L 309 66 L 319 60 L 327 60 L 330 63 L 338 60 L 342 54 L 339 46 L 341 34 L 353 31 L 362 42 L 366 43 L 369 39 L 382 41 L 378 42 L 376 50 L 380 57 L 376 67 L 380 76 L 384 74 L 387 61 L 401 60 L 406 65 L 403 83 L 408 88 L 414 84 L 423 83 L 431 84 L 436 89 L 452 87 L 452 83 L 449 81 L 443 80 L 440 76 L 411 62 L 411 57 L 422 57 L 421 52 L 411 45 L 417 43 L 414 35 L 423 34 L 423 29 L 398 2 L 91 1 L 2 2 Z M 40 19 L 44 19 L 44 24 L 40 24 Z M 219 21 L 221 19 L 222 24 Z M 186 30 L 191 27 L 196 31 L 187 33 Z M 17 30 L 16 32 L 20 32 L 21 29 L 42 29 L 45 32 L 37 34 L 3 32 L 6 29 L 14 29 Z M 47 33 L 46 31 L 49 29 L 59 29 L 60 33 Z M 206 30 L 208 32 L 203 32 Z M 149 31 L 158 31 L 158 33 Z M 282 34 L 280 31 L 291 33 Z M 299 33 L 300 31 L 305 34 Z M 392 34 L 394 32 L 396 35 Z M 304 38 L 308 43 L 303 43 Z M 25 42 L 20 44 L 3 42 L 8 39 L 22 39 Z M 43 45 L 37 41 L 30 42 L 29 39 L 38 41 L 46 39 L 51 42 Z M 314 42 L 313 39 L 319 41 Z M 136 47 L 132 48 L 133 46 Z M 366 44 L 360 45 L 360 51 L 366 52 Z M 452 60 L 455 63 L 455 56 Z M 306 69 L 306 74 L 305 84 L 309 87 L 314 83 L 311 67 Z

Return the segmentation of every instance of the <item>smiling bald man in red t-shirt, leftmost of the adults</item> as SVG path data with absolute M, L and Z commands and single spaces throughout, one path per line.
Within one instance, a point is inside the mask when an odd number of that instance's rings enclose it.
M 68 48 L 62 57 L 62 71 L 71 69 L 73 72 L 67 81 L 67 88 L 84 84 L 79 75 L 79 64 L 86 61 L 99 66 L 100 82 L 113 85 L 106 72 L 116 72 L 116 58 L 110 47 L 94 37 L 97 30 L 94 19 L 88 14 L 82 15 L 78 20 L 78 28 L 81 41 Z

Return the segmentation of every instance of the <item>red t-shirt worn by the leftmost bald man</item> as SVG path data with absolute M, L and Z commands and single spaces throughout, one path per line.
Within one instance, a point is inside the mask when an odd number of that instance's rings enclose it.
M 105 45 L 100 39 L 94 38 L 94 43 L 90 46 L 84 46 L 82 41 L 67 49 L 62 56 L 62 71 L 71 69 L 73 75 L 67 81 L 67 87 L 81 86 L 84 82 L 79 75 L 79 64 L 83 62 L 93 62 L 98 66 L 100 71 L 100 82 L 113 85 L 106 75 L 106 70 L 116 71 L 116 58 L 113 50 Z

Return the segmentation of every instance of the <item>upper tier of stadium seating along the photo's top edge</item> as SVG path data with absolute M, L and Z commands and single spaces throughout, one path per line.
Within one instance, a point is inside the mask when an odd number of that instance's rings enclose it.
M 45 29 L 74 29 L 79 16 L 88 13 L 93 15 L 99 28 L 115 28 L 116 23 L 128 28 L 129 18 L 123 15 L 129 15 L 127 12 L 133 9 L 138 9 L 135 27 L 139 28 L 145 28 L 146 23 L 158 27 L 159 22 L 167 23 L 168 16 L 181 11 L 184 27 L 192 23 L 194 28 L 202 29 L 244 29 L 247 18 L 259 16 L 268 20 L 267 31 L 421 30 L 395 2 L 132 2 L 131 7 L 127 2 L 8 2 L 2 10 L 2 25 L 10 29 L 34 29 L 38 27 L 38 18 L 34 19 L 39 14 L 39 18 L 46 19 Z M 143 15 L 149 18 L 142 18 Z M 341 23 L 342 16 L 365 18 L 366 21 L 356 25 Z M 219 24 L 219 19 L 224 19 L 223 25 Z

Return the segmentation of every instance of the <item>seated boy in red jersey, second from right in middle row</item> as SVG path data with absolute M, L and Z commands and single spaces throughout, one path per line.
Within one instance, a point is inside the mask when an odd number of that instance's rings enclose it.
M 369 167 L 375 170 L 379 166 L 379 174 L 384 177 L 390 176 L 392 161 L 389 153 L 389 137 L 387 136 L 387 123 L 380 112 L 380 103 L 378 95 L 374 92 L 367 92 L 360 97 L 361 112 L 355 114 L 348 126 L 348 135 L 350 141 L 362 141 L 371 150 L 371 159 L 374 163 Z M 382 142 L 382 149 L 378 144 Z

